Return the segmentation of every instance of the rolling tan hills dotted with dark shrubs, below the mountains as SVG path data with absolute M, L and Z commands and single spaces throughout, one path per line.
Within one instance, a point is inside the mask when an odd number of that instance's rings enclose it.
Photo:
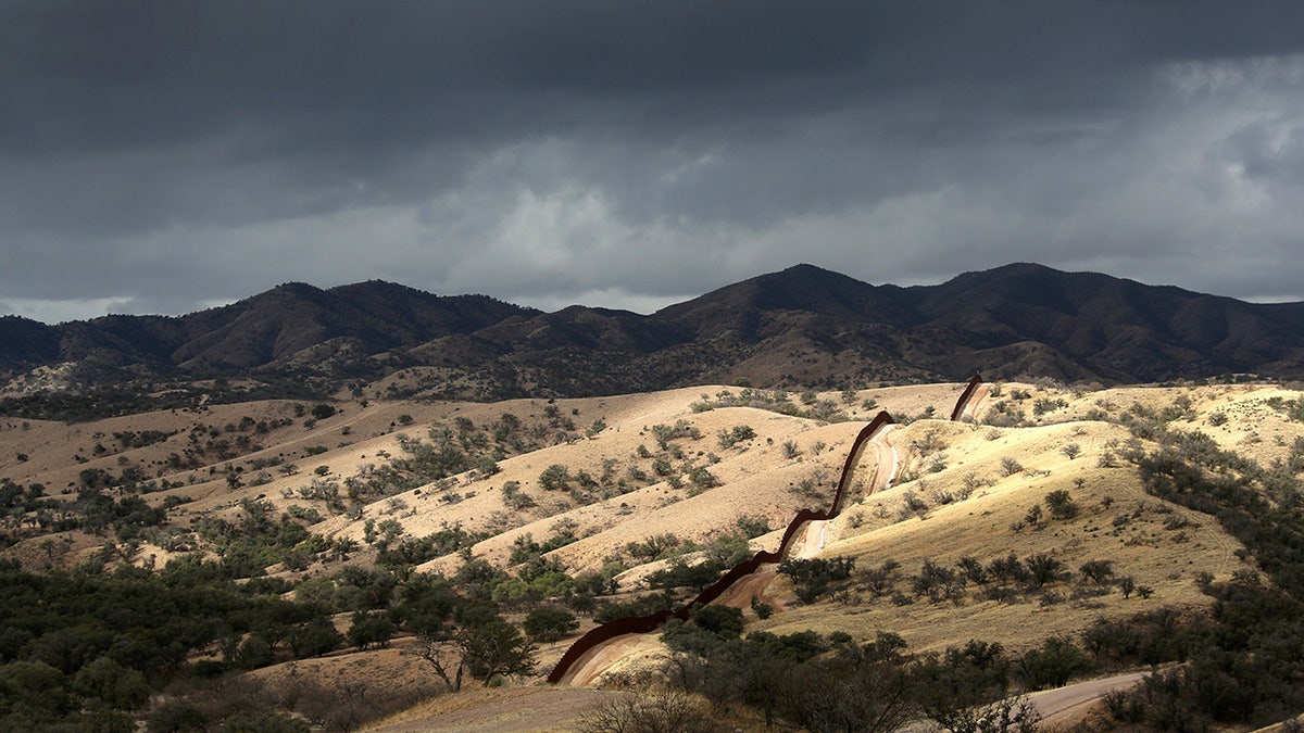
M 1304 466 L 1300 393 L 1261 383 L 1076 391 L 1008 382 L 986 386 L 971 417 L 948 421 L 962 387 L 786 395 L 696 386 L 496 403 L 343 393 L 317 403 L 211 404 L 76 424 L 9 417 L 0 420 L 0 560 L 34 578 L 78 569 L 91 578 L 78 583 L 134 583 L 137 595 L 153 592 L 150 576 L 172 592 L 259 576 L 223 601 L 254 605 L 220 616 L 233 626 L 197 630 L 206 640 L 184 664 L 153 666 L 145 651 L 153 642 L 141 642 L 137 657 L 104 659 L 142 664 L 155 681 L 194 677 L 183 696 L 209 719 L 230 712 L 220 695 L 203 696 L 200 677 L 220 674 L 243 695 L 252 694 L 248 685 L 261 687 L 254 696 L 269 715 L 293 710 L 344 726 L 352 724 L 338 716 L 363 720 L 439 695 L 446 686 L 415 652 L 429 636 L 445 639 L 436 648 L 449 653 L 459 630 L 477 629 L 467 616 L 476 604 L 494 608 L 503 629 L 536 609 L 578 617 L 559 642 L 540 642 L 533 676 L 511 677 L 532 685 L 601 620 L 682 604 L 715 576 L 703 573 L 776 549 L 798 510 L 828 507 L 852 441 L 880 411 L 897 423 L 878 438 L 885 450 L 853 464 L 841 513 L 803 527 L 790 556 L 855 571 L 812 590 L 768 566 L 720 600 L 742 610 L 748 633 L 845 634 L 857 643 L 891 633 L 911 655 L 979 639 L 1026 661 L 1046 639 L 1086 639 L 1099 623 L 1159 612 L 1205 618 L 1210 592 L 1223 584 L 1275 578 L 1267 556 L 1209 510 L 1158 498 L 1138 460 L 1155 441 L 1172 440 L 1166 434 L 1198 430 L 1206 442 L 1189 445 L 1270 468 L 1254 479 L 1258 490 L 1288 509 L 1282 486 L 1297 496 Z M 891 475 L 891 485 L 875 475 Z M 1035 584 L 998 576 L 1011 556 L 1048 575 Z M 149 573 L 115 570 L 128 562 Z M 436 576 L 449 579 L 446 590 L 428 580 Z M 769 609 L 765 618 L 758 604 Z M 273 608 L 282 620 L 259 621 Z M 366 640 L 365 623 L 383 617 L 394 627 Z M 348 650 L 344 639 L 329 642 L 314 618 L 361 642 Z M 441 621 L 428 633 L 422 618 Z M 305 640 L 312 629 L 325 646 Z M 265 651 L 256 652 L 254 640 Z M 85 661 L 48 656 L 50 643 L 5 642 L 0 652 L 7 663 L 48 659 L 72 678 Z M 613 640 L 572 680 L 627 685 L 659 666 L 664 644 L 656 634 Z M 1115 657 L 1098 655 L 1097 664 L 1106 659 Z M 383 689 L 368 682 L 379 678 Z M 553 710 L 549 725 L 565 728 L 585 710 L 629 699 L 472 687 L 479 683 L 468 678 L 452 696 L 462 702 L 441 696 L 393 729 L 464 728 L 458 711 L 477 706 L 509 717 L 512 706 L 541 706 Z M 336 704 L 318 710 L 317 699 Z M 171 710 L 160 704 L 143 710 Z M 738 715 L 733 724 L 755 724 Z M 445 716 L 452 717 L 439 723 Z

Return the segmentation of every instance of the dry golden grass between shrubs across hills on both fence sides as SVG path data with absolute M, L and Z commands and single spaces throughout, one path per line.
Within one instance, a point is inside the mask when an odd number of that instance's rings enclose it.
M 1163 605 L 1197 608 L 1206 604 L 1194 578 L 1198 573 L 1211 573 L 1226 578 L 1237 569 L 1248 567 L 1237 558 L 1239 543 L 1223 533 L 1217 522 L 1181 507 L 1166 506 L 1148 496 L 1136 472 L 1125 462 L 1115 467 L 1102 467 L 1103 455 L 1114 454 L 1129 440 L 1127 429 L 1111 424 L 1129 410 L 1163 411 L 1174 404 L 1184 404 L 1183 415 L 1170 426 L 1201 430 L 1221 446 L 1269 464 L 1283 459 L 1295 440 L 1304 436 L 1304 425 L 1292 421 L 1281 407 L 1281 399 L 1300 399 L 1297 391 L 1266 385 L 1215 385 L 1176 387 L 1123 387 L 1097 391 L 1074 391 L 1037 385 L 999 385 L 979 406 L 979 423 L 990 420 L 999 403 L 1007 410 L 1022 411 L 1031 426 L 996 428 L 986 424 L 958 424 L 947 417 L 964 385 L 923 385 L 861 390 L 854 400 L 845 402 L 841 393 L 824 393 L 819 399 L 831 400 L 852 417 L 849 423 L 822 424 L 814 420 L 789 417 L 752 408 L 719 408 L 696 412 L 694 403 L 703 395 L 715 396 L 735 387 L 702 386 L 669 390 L 655 394 L 623 395 L 557 400 L 556 410 L 574 420 L 582 434 L 595 420 L 604 420 L 606 429 L 591 438 L 580 438 L 562 445 L 540 449 L 498 463 L 501 472 L 489 477 L 456 476 L 452 489 L 462 501 L 449 503 L 439 500 L 433 485 L 387 497 L 363 507 L 360 518 L 329 516 L 310 527 L 313 532 L 363 540 L 368 519 L 396 519 L 406 537 L 421 537 L 449 524 L 460 524 L 469 531 L 494 531 L 494 536 L 473 548 L 473 554 L 503 566 L 512 541 L 526 533 L 544 540 L 558 520 L 572 523 L 579 541 L 553 552 L 572 573 L 593 570 L 602 560 L 618 553 L 631 541 L 649 535 L 674 533 L 698 543 L 737 531 L 741 515 L 764 515 L 771 533 L 752 541 L 754 549 L 773 549 L 780 531 L 797 509 L 827 507 L 833 483 L 857 432 L 879 410 L 897 417 L 915 421 L 896 426 L 887 436 L 897 450 L 898 481 L 888 490 L 865 497 L 863 477 L 874 466 L 872 453 L 867 453 L 859 467 L 862 484 L 853 490 L 844 513 L 831 522 L 825 531 L 823 557 L 850 556 L 857 567 L 872 567 L 885 560 L 901 563 L 898 588 L 906 590 L 904 578 L 918 571 L 925 558 L 953 565 L 964 556 L 985 563 L 996 557 L 1015 553 L 1021 558 L 1046 553 L 1061 561 L 1069 573 L 1077 574 L 1089 560 L 1114 562 L 1116 575 L 1131 575 L 1138 586 L 1154 590 L 1150 599 L 1133 596 L 1123 599 L 1114 590 L 1098 597 L 1072 599 L 1080 583 L 1056 583 L 1048 591 L 1064 596 L 1060 603 L 1043 605 L 1033 596 L 1028 603 L 996 603 L 966 597 L 960 604 L 932 604 L 918 599 L 909 605 L 896 605 L 891 599 L 870 600 L 862 593 L 859 603 L 844 604 L 823 600 L 812 605 L 797 603 L 792 587 L 780 576 L 765 590 L 778 608 L 768 621 L 758 621 L 748 613 L 750 629 L 789 633 L 814 629 L 822 633 L 846 631 L 855 638 L 872 638 L 878 631 L 901 634 L 914 651 L 938 650 L 969 639 L 1000 642 L 1009 650 L 1022 650 L 1056 634 L 1076 634 L 1098 617 L 1121 617 L 1138 610 Z M 1013 399 L 1016 390 L 1028 393 L 1025 399 Z M 795 396 L 795 395 L 794 395 Z M 1279 399 L 1274 399 L 1279 398 Z M 866 408 L 865 402 L 872 400 Z M 1043 413 L 1034 415 L 1034 406 L 1042 403 Z M 1063 404 L 1056 400 L 1063 400 Z M 1138 406 L 1138 407 L 1134 407 Z M 74 493 L 78 473 L 86 468 L 104 468 L 119 472 L 126 466 L 138 466 L 154 476 L 164 471 L 168 480 L 184 484 L 180 488 L 147 494 L 151 503 L 168 496 L 185 496 L 189 501 L 173 510 L 171 520 L 188 527 L 202 516 L 237 519 L 240 501 L 258 498 L 270 502 L 276 513 L 291 506 L 317 507 L 319 503 L 296 496 L 296 489 L 313 477 L 313 468 L 326 466 L 329 477 L 343 480 L 357 475 L 368 464 L 379 464 L 402 456 L 398 434 L 424 437 L 432 425 L 466 417 L 484 426 L 505 412 L 512 412 L 526 421 L 541 420 L 550 407 L 546 400 L 511 400 L 493 404 L 477 403 L 415 403 L 372 402 L 361 407 L 356 402 L 342 404 L 343 412 L 319 420 L 312 428 L 304 421 L 279 428 L 256 438 L 263 442 L 259 451 L 233 459 L 241 464 L 258 458 L 280 458 L 299 466 L 299 473 L 284 476 L 275 470 L 266 484 L 246 485 L 232 490 L 223 475 L 222 464 L 210 472 L 207 467 L 194 471 L 167 472 L 170 453 L 185 445 L 186 436 L 196 426 L 216 428 L 239 423 L 241 417 L 253 420 L 279 420 L 293 416 L 288 402 L 256 402 L 231 406 L 211 406 L 197 412 L 162 411 L 95 423 L 65 425 L 38 420 L 0 419 L 0 476 L 21 484 L 46 484 L 47 494 Z M 938 419 L 923 419 L 930 415 Z M 400 425 L 400 416 L 412 417 Z M 1224 416 L 1226 420 L 1223 420 Z M 1091 420 L 1089 417 L 1103 417 Z M 561 463 L 571 472 L 587 471 L 599 476 L 604 462 L 614 460 L 615 470 L 625 476 L 629 467 L 643 468 L 648 475 L 649 459 L 639 456 L 644 445 L 656 453 L 649 429 L 656 424 L 674 424 L 686 420 L 702 437 L 681 438 L 675 445 L 685 462 L 708 464 L 721 485 L 689 496 L 687 488 L 673 489 L 666 483 L 651 483 L 622 496 L 605 501 L 578 503 L 563 492 L 545 492 L 539 486 L 539 475 L 549 464 Z M 750 425 L 756 437 L 732 449 L 721 447 L 716 433 L 734 425 Z M 163 430 L 177 432 L 168 441 L 133 450 L 110 446 L 115 432 Z M 96 434 L 102 434 L 96 438 Z M 223 433 L 223 437 L 228 437 Z M 94 454 L 96 440 L 110 446 L 103 455 Z M 797 455 L 789 455 L 784 443 L 794 442 Z M 1063 446 L 1076 443 L 1080 454 L 1069 458 Z M 319 455 L 308 455 L 308 447 L 323 446 Z M 820 450 L 816 450 L 816 446 Z M 18 462 L 25 454 L 27 460 Z M 711 455 L 719 460 L 712 460 Z M 78 455 L 86 460 L 78 460 Z M 1022 471 L 1007 475 L 1003 459 L 1015 459 Z M 252 472 L 246 471 L 245 477 Z M 502 485 L 518 481 L 522 490 L 533 497 L 539 506 L 524 511 L 511 511 L 502 501 Z M 803 493 L 803 481 L 814 481 L 819 493 Z M 1069 520 L 1046 522 L 1042 530 L 1012 530 L 1034 505 L 1043 503 L 1048 492 L 1068 490 L 1081 507 L 1078 516 Z M 923 516 L 901 519 L 906 492 L 930 506 Z M 968 498 L 958 498 L 969 492 Z M 949 494 L 953 501 L 943 503 Z M 395 502 L 394 500 L 399 500 Z M 1176 524 L 1184 526 L 1176 528 Z M 1115 526 L 1118 522 L 1118 526 Z M 96 537 L 77 532 L 57 537 L 35 537 L 0 552 L 0 557 L 17 557 L 30 567 L 72 565 L 95 552 L 110 537 Z M 53 540 L 51 544 L 50 540 Z M 818 549 L 818 544 L 815 545 Z M 370 550 L 363 550 L 349 562 L 368 561 Z M 136 556 L 143 562 L 154 556 L 155 563 L 171 557 L 162 548 L 143 545 Z M 420 570 L 449 571 L 460 562 L 445 557 L 428 562 Z M 655 565 L 632 567 L 621 576 L 625 590 L 636 590 L 640 579 Z M 326 574 L 334 566 L 314 566 L 309 574 Z M 279 571 L 280 569 L 271 569 Z M 288 574 L 292 576 L 295 574 Z M 973 590 L 973 587 L 970 587 Z M 737 599 L 734 599 L 737 600 Z M 585 625 L 584 629 L 591 627 Z M 582 629 L 582 631 L 584 630 Z M 319 674 L 323 678 L 348 676 L 359 669 L 349 666 L 369 660 L 368 676 L 412 678 L 424 670 L 413 665 L 412 657 L 399 653 L 403 642 L 383 652 L 339 652 L 312 663 L 297 663 L 297 673 Z M 541 650 L 540 672 L 546 672 L 566 644 Z M 640 636 L 622 642 L 589 677 L 600 672 L 631 669 L 640 660 L 660 653 L 655 636 Z M 283 674 L 286 669 L 258 674 Z M 476 706 L 493 707 L 501 700 L 484 693 Z M 512 698 L 515 699 L 515 698 Z M 578 698 L 576 698 L 578 699 Z M 584 698 L 588 700 L 588 698 Z M 496 702 L 498 700 L 498 702 Z M 588 704 L 592 700 L 584 702 Z M 441 700 L 437 707 L 463 704 Z M 469 704 L 469 703 L 467 703 Z M 514 703 L 515 704 L 515 703 Z M 520 704 L 542 704 L 541 698 L 522 699 Z M 558 703 L 562 707 L 570 703 Z M 580 703 L 575 703 L 580 704 Z M 565 712 L 565 711 L 563 711 Z M 441 713 L 442 715 L 442 713 Z M 421 720 L 417 716 L 417 720 Z M 567 719 L 569 720 L 569 719 Z M 409 721 L 394 721 L 400 729 L 411 728 Z M 402 728 L 408 725 L 408 728 Z M 557 725 L 565 725 L 558 723 Z

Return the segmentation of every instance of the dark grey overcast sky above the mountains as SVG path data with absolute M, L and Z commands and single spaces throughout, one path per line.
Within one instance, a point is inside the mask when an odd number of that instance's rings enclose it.
M 0 313 L 808 262 L 1304 300 L 1304 3 L 0 1 Z

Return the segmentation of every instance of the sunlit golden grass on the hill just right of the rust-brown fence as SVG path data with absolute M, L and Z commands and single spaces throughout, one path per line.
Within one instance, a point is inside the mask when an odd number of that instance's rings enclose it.
M 1035 595 L 1012 604 L 969 597 L 960 605 L 934 604 L 926 597 L 910 605 L 896 605 L 889 597 L 871 601 L 863 595 L 857 604 L 825 600 L 803 606 L 790 601 L 786 612 L 758 622 L 758 627 L 776 633 L 846 631 L 857 638 L 893 631 L 914 650 L 968 639 L 1000 642 L 1007 648 L 1020 650 L 1051 635 L 1076 634 L 1098 617 L 1131 616 L 1162 605 L 1205 605 L 1194 582 L 1197 573 L 1226 578 L 1245 566 L 1235 556 L 1240 544 L 1211 518 L 1150 497 L 1131 467 L 1098 467 L 1103 446 L 1121 437 L 1119 428 L 1064 424 L 1008 429 L 994 437 L 985 428 L 957 432 L 955 425 L 915 423 L 892 433 L 889 440 L 905 445 L 926 430 L 951 433 L 948 467 L 845 510 L 835 520 L 838 539 L 825 548 L 824 557 L 854 557 L 862 569 L 887 560 L 900 562 L 902 580 L 897 586 L 909 596 L 913 593 L 906 576 L 918 573 L 926 558 L 953 567 L 965 556 L 987 565 L 1009 553 L 1020 558 L 1041 553 L 1063 562 L 1074 576 L 1084 562 L 1107 560 L 1114 563 L 1116 575 L 1133 576 L 1138 586 L 1154 588 L 1153 597 L 1124 599 L 1112 590 L 1101 597 L 1073 600 L 1077 582 L 1047 586 L 1047 592 L 1063 596 L 1060 603 L 1048 605 L 1039 603 Z M 1067 442 L 1081 445 L 1082 454 L 1076 459 L 1061 454 L 1059 449 Z M 1000 460 L 1007 456 L 1017 458 L 1024 471 L 1001 476 Z M 941 505 L 939 494 L 958 496 L 968 475 L 991 484 L 975 488 L 968 500 Z M 1068 490 L 1080 505 L 1076 518 L 1047 519 L 1043 530 L 1012 528 L 1034 505 L 1045 509 L 1046 494 L 1056 489 Z M 904 510 L 906 492 L 931 505 L 923 518 Z M 909 518 L 900 519 L 906 514 Z M 1179 518 L 1185 520 L 1183 527 L 1164 528 L 1180 524 Z M 1125 523 L 1115 527 L 1116 519 Z M 861 526 L 853 528 L 854 523 Z M 771 592 L 792 599 L 785 596 L 785 588 L 790 586 L 781 579 Z

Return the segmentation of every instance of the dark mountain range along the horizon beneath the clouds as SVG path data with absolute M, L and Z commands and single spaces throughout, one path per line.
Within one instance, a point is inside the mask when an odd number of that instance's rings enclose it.
M 1031 263 L 938 286 L 874 286 L 797 265 L 643 316 L 554 313 L 370 280 L 288 283 L 186 316 L 46 325 L 0 317 L 0 378 L 64 387 L 185 378 L 501 399 L 691 383 L 842 387 L 1048 377 L 1133 383 L 1304 376 L 1304 303 L 1252 304 Z M 407 377 L 407 378 L 404 378 Z

